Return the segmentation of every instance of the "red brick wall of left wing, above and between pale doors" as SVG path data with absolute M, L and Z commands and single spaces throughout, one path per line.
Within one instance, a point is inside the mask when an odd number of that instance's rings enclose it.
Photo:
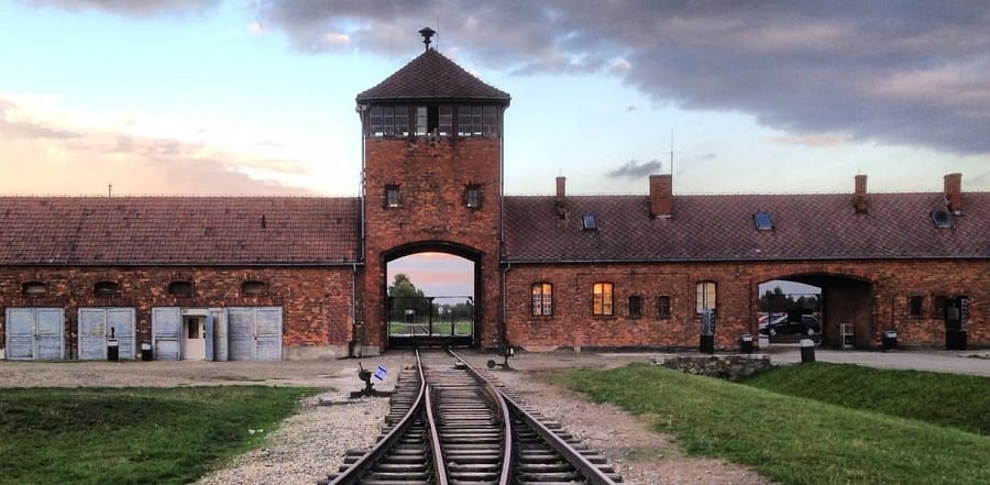
M 168 295 L 168 284 L 175 280 L 193 282 L 194 296 Z M 267 291 L 242 296 L 241 284 L 245 280 L 265 282 Z M 45 283 L 47 294 L 21 295 L 21 285 L 26 282 Z M 117 282 L 120 294 L 95 296 L 97 282 Z M 288 357 L 320 354 L 320 349 L 343 353 L 337 348 L 345 350 L 351 340 L 351 268 L 342 267 L 7 267 L 0 272 L 0 345 L 6 342 L 3 310 L 8 307 L 65 308 L 65 348 L 75 355 L 80 307 L 135 308 L 139 342 L 148 342 L 153 307 L 277 306 L 283 308 L 283 345 Z

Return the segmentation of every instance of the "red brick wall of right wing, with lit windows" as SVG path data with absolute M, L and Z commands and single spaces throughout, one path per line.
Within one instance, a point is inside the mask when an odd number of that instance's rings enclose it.
M 743 333 L 757 334 L 759 285 L 805 279 L 825 288 L 826 343 L 837 345 L 838 324 L 856 326 L 856 344 L 879 345 L 897 330 L 906 346 L 941 348 L 945 323 L 931 308 L 937 295 L 970 298 L 967 326 L 972 346 L 990 345 L 990 262 L 657 263 L 521 265 L 507 274 L 507 332 L 513 345 L 563 348 L 696 348 L 701 319 L 695 284 L 717 285 L 716 345 L 736 348 Z M 530 285 L 553 285 L 553 315 L 531 315 Z M 614 285 L 614 315 L 592 315 L 592 286 Z M 671 318 L 660 319 L 657 298 L 671 300 Z M 924 297 L 921 318 L 909 315 L 909 297 Z M 628 298 L 642 298 L 642 316 L 629 316 Z

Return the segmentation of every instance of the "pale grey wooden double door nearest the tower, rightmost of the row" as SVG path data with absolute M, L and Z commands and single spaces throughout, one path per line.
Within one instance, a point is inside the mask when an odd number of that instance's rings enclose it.
M 227 310 L 231 361 L 282 360 L 282 308 L 233 307 Z

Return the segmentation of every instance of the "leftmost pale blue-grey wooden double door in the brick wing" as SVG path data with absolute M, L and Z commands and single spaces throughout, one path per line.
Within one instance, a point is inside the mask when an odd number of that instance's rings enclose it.
M 64 352 L 64 309 L 7 309 L 7 359 L 12 361 L 54 361 L 63 359 Z

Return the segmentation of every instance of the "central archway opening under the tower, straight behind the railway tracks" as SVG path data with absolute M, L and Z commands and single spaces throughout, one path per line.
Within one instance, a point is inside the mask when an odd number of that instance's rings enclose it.
M 389 349 L 474 346 L 482 254 L 448 242 L 421 242 L 383 253 Z

